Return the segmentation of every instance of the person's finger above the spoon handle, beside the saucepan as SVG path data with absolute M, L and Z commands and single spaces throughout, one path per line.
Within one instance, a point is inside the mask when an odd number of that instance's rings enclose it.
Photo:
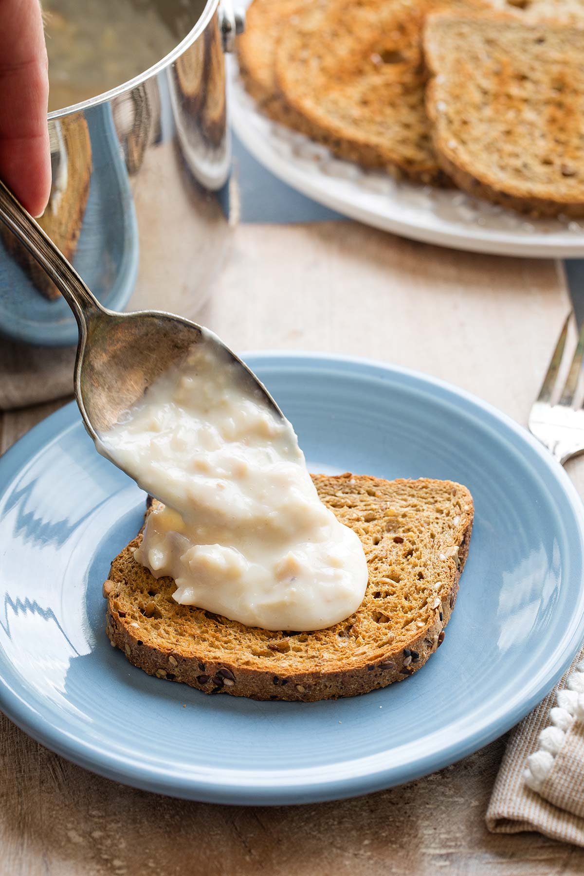
M 39 0 L 0 0 L 0 179 L 36 216 L 51 191 L 47 71 Z

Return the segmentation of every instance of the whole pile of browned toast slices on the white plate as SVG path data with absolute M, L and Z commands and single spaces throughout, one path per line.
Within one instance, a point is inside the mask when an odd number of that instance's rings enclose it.
M 260 109 L 341 158 L 584 215 L 584 0 L 254 0 L 238 55 Z

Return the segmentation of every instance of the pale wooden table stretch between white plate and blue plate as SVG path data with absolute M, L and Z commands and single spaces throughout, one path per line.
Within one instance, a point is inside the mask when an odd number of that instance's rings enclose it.
M 236 350 L 407 365 L 524 422 L 570 308 L 553 262 L 417 244 L 356 223 L 242 226 L 201 314 Z

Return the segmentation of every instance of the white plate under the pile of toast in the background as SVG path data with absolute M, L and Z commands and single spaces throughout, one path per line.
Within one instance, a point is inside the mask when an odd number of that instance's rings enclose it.
M 327 207 L 403 237 L 458 250 L 531 258 L 584 256 L 584 219 L 531 219 L 463 194 L 365 171 L 262 115 L 231 59 L 231 123 L 271 173 Z

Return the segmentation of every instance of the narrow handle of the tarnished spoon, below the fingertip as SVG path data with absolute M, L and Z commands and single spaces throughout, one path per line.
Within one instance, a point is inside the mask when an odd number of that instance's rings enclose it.
M 87 329 L 88 317 L 103 311 L 102 305 L 89 291 L 73 265 L 57 249 L 50 237 L 27 213 L 20 201 L 0 180 L 0 220 L 18 237 L 21 244 L 36 258 L 73 310 L 80 331 Z

